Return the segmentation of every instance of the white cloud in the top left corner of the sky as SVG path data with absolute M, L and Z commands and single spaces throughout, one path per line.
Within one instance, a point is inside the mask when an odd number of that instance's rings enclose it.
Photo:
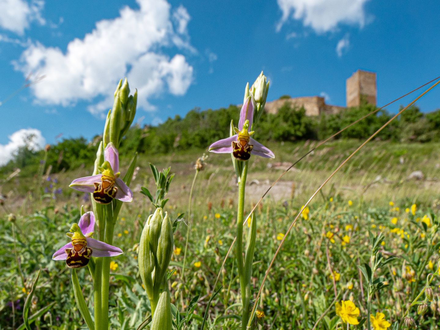
M 0 26 L 22 35 L 29 28 L 29 23 L 37 20 L 41 25 L 46 22 L 41 17 L 44 7 L 42 0 L 0 0 Z

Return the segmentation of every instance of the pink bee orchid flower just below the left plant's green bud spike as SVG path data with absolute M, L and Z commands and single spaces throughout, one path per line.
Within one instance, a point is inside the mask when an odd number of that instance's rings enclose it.
M 104 150 L 104 163 L 98 169 L 101 174 L 75 179 L 69 187 L 93 193 L 93 198 L 100 204 L 111 203 L 114 198 L 123 202 L 133 200 L 132 191 L 119 178 L 119 152 L 113 143 L 107 144 Z

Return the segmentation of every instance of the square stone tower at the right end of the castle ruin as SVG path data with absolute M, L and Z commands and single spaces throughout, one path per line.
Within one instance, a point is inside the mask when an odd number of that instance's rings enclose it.
M 365 98 L 368 103 L 376 105 L 377 95 L 375 72 L 357 70 L 345 82 L 347 108 L 359 106 L 362 98 Z

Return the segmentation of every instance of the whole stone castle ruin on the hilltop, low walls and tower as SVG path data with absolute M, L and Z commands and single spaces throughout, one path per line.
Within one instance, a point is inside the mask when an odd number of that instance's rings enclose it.
M 282 105 L 289 102 L 293 106 L 303 106 L 307 116 L 319 116 L 323 113 L 335 114 L 349 107 L 357 107 L 361 104 L 361 99 L 363 98 L 365 98 L 368 103 L 376 105 L 376 73 L 357 70 L 345 81 L 346 107 L 326 104 L 325 99 L 321 96 L 305 96 L 299 98 L 281 98 L 267 102 L 264 109 L 269 113 L 276 113 Z

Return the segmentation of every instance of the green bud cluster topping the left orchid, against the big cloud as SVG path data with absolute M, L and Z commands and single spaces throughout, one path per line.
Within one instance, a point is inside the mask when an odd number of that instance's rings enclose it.
M 137 90 L 134 95 L 130 95 L 127 78 L 122 79 L 114 92 L 113 109 L 109 110 L 104 125 L 104 149 L 109 142 L 113 142 L 116 148 L 119 147 L 124 135 L 130 128 L 136 115 Z

